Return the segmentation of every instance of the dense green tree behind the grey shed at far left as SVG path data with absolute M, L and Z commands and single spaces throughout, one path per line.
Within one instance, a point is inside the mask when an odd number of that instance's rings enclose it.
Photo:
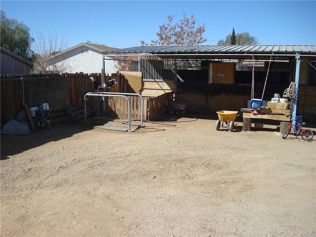
M 33 60 L 31 45 L 34 39 L 30 35 L 30 28 L 15 19 L 8 19 L 5 12 L 0 12 L 0 45 L 16 55 Z

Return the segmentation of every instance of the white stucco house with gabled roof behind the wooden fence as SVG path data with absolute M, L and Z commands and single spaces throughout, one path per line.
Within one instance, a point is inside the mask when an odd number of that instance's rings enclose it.
M 103 52 L 117 48 L 101 46 L 90 43 L 80 43 L 74 47 L 50 57 L 47 70 L 62 71 L 63 73 L 101 73 L 103 67 Z M 108 57 L 116 59 L 115 57 Z M 116 73 L 114 60 L 107 60 L 105 73 Z

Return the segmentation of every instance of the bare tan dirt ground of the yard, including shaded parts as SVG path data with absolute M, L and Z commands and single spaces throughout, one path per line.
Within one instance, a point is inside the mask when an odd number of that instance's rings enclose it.
M 197 115 L 93 127 L 106 121 L 1 134 L 1 237 L 316 236 L 316 140 Z

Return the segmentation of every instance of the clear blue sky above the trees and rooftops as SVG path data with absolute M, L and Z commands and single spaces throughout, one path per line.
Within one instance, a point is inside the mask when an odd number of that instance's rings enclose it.
M 232 33 L 248 32 L 260 44 L 316 45 L 316 0 L 1 0 L 7 18 L 27 25 L 31 33 L 56 34 L 68 47 L 90 40 L 126 48 L 156 40 L 159 25 L 192 14 L 205 24 L 203 44 L 217 44 Z

